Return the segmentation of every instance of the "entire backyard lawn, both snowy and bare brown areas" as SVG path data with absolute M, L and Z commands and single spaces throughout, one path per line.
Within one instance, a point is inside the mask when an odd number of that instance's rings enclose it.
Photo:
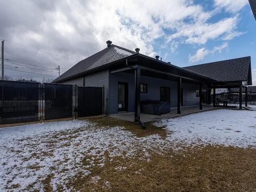
M 255 191 L 256 112 L 0 129 L 1 191 Z

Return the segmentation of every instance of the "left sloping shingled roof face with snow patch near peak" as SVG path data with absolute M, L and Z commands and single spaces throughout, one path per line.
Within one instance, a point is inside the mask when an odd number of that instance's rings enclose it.
M 110 47 L 107 47 L 98 53 L 79 61 L 68 71 L 54 79 L 53 82 L 59 82 L 71 76 L 104 66 L 105 64 L 131 56 L 133 54 L 136 54 L 136 52 L 112 44 Z

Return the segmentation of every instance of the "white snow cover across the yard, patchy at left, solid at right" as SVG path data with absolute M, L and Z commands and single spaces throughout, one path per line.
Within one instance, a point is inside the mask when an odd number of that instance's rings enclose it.
M 150 160 L 151 151 L 179 150 L 181 145 L 256 147 L 256 111 L 215 110 L 163 119 L 156 125 L 166 126 L 165 139 L 138 138 L 123 127 L 98 127 L 82 120 L 0 129 L 0 190 L 15 186 L 13 190 L 42 191 L 41 181 L 51 173 L 53 189 L 65 187 L 78 172 L 89 175 L 90 167 L 104 166 L 105 152 L 110 158 L 131 158 L 139 151 L 141 158 Z

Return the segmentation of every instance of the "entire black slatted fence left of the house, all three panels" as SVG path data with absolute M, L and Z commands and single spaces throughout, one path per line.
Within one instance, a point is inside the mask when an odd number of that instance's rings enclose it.
M 103 114 L 104 88 L 0 81 L 0 124 Z

